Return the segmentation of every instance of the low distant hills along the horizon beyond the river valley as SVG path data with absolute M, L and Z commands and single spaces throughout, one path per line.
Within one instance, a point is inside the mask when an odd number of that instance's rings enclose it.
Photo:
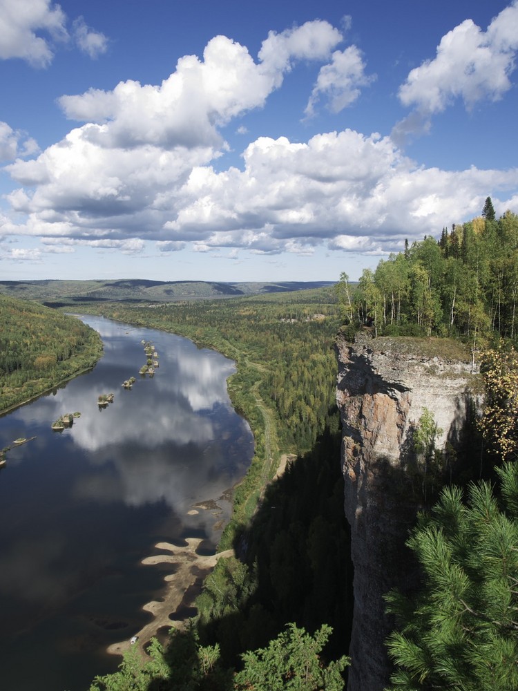
M 175 302 L 238 295 L 259 295 L 309 290 L 334 281 L 283 281 L 280 283 L 215 281 L 148 281 L 123 278 L 117 281 L 0 281 L 0 294 L 34 300 L 51 307 L 87 302 Z

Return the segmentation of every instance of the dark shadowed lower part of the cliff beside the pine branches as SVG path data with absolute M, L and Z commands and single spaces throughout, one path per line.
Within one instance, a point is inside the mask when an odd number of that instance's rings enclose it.
M 392 616 L 383 614 L 383 596 L 396 588 L 411 595 L 420 585 L 419 565 L 406 541 L 419 511 L 437 502 L 443 486 L 477 480 L 490 474 L 492 460 L 483 453 L 477 426 L 477 401 L 465 392 L 447 432 L 448 443 L 441 453 L 428 457 L 416 453 L 416 426 L 410 425 L 401 445 L 399 459 L 377 456 L 364 459 L 363 482 L 356 489 L 353 555 L 360 573 L 355 584 L 361 614 L 352 646 L 352 677 L 365 681 L 354 668 L 355 659 L 371 665 L 372 677 L 388 683 L 392 665 L 385 641 L 394 629 Z M 352 477 L 350 482 L 357 482 Z M 367 489 L 368 487 L 368 489 Z M 367 494 L 365 494 L 367 493 Z M 355 624 L 355 628 L 356 628 Z M 363 646 L 363 652 L 358 648 Z M 372 660 L 365 650 L 372 652 Z M 377 652 L 376 652 L 377 651 Z M 368 670 L 367 670 L 368 671 Z

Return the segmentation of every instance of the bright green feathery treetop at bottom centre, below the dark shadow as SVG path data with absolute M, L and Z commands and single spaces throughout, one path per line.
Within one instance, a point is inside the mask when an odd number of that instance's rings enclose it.
M 244 669 L 236 675 L 236 690 L 249 691 L 342 691 L 342 672 L 349 664 L 343 656 L 323 665 L 323 650 L 331 627 L 323 625 L 314 636 L 295 624 L 287 625 L 268 647 L 242 655 Z

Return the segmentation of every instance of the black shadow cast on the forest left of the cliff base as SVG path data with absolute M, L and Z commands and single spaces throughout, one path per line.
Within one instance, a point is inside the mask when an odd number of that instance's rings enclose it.
M 238 668 L 242 652 L 266 647 L 290 622 L 311 634 L 329 624 L 326 659 L 347 654 L 353 574 L 340 439 L 325 430 L 309 453 L 287 464 L 235 545 L 253 589 L 238 609 L 199 626 L 200 642 L 218 643 L 227 668 Z

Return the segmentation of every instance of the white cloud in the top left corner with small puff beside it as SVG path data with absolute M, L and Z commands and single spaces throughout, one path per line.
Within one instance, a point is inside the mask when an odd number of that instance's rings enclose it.
M 61 7 L 50 0 L 0 0 L 0 59 L 19 58 L 33 67 L 48 67 L 57 46 L 70 41 L 67 21 Z M 86 26 L 82 17 L 73 22 L 73 35 L 90 57 L 106 51 L 106 37 Z

